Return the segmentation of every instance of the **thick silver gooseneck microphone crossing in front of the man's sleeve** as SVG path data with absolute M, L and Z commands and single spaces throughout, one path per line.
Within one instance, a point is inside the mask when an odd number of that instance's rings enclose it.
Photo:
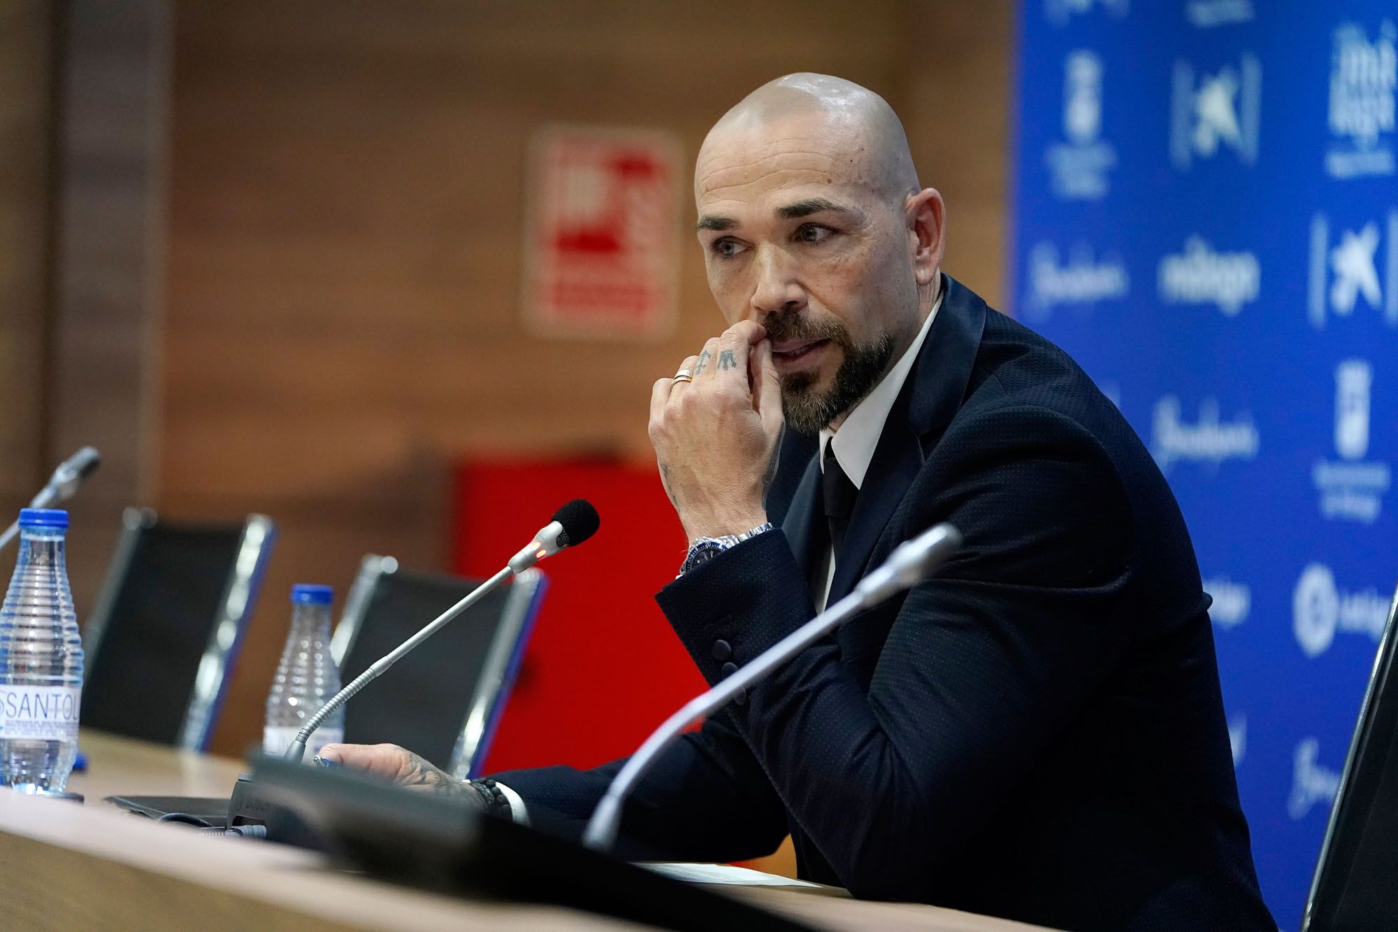
M 741 690 L 777 669 L 816 640 L 825 637 L 851 616 L 884 602 L 896 592 L 910 589 L 932 575 L 960 547 L 962 536 L 951 525 L 934 525 L 911 540 L 900 543 L 874 572 L 860 579 L 850 595 L 759 654 L 747 666 L 713 686 L 667 718 L 635 754 L 617 771 L 607 793 L 593 810 L 583 833 L 583 844 L 607 851 L 617 841 L 621 806 L 650 765 L 679 736 L 689 722 L 717 711 Z

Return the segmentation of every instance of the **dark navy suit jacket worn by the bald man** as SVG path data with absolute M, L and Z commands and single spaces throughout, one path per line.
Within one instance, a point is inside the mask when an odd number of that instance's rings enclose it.
M 858 897 L 1062 929 L 1275 928 L 1173 494 L 1062 351 L 944 284 L 830 603 L 935 522 L 963 549 L 678 742 L 629 800 L 622 854 L 733 861 L 790 833 L 801 876 Z M 657 596 L 710 683 L 814 612 L 814 458 L 786 504 L 780 530 Z M 618 765 L 498 778 L 576 837 Z

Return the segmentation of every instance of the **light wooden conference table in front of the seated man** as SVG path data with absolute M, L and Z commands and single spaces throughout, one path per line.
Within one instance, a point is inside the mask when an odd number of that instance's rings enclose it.
M 222 796 L 239 761 L 84 732 L 85 805 L 0 791 L 4 929 L 635 929 L 575 910 L 450 897 L 338 870 L 315 852 L 210 838 L 105 796 Z M 828 929 L 1009 932 L 1033 926 L 955 910 L 851 900 L 833 887 L 726 886 Z

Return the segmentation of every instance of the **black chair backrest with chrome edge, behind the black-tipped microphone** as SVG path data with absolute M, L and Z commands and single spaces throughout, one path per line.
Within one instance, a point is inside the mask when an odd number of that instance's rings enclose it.
M 480 584 L 407 572 L 368 556 L 330 652 L 348 683 Z M 457 777 L 477 775 L 544 596 L 527 570 L 467 609 L 345 705 L 345 740 L 411 747 Z

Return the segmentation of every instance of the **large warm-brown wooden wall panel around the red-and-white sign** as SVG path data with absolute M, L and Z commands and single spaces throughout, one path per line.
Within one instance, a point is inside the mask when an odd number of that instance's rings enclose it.
M 981 127 L 939 148 L 939 104 L 913 95 L 990 108 L 981 123 L 995 123 L 1007 76 L 948 81 L 994 71 L 1008 35 L 944 43 L 924 6 L 179 4 L 159 505 L 190 518 L 256 509 L 282 526 L 221 750 L 259 735 L 291 582 L 343 592 L 369 550 L 445 565 L 454 458 L 649 460 L 650 383 L 721 329 L 698 248 L 686 246 L 672 337 L 526 333 L 520 248 L 535 127 L 668 129 L 692 160 L 709 125 L 762 81 L 833 71 L 911 113 L 914 154 L 931 160 L 924 176 L 942 185 L 953 218 L 965 186 L 980 225 L 993 227 L 1002 172 L 986 179 L 951 162 L 966 153 L 998 162 L 1002 151 L 986 147 L 1002 133 Z M 990 28 L 1007 21 L 993 14 Z M 987 62 L 965 60 L 987 48 Z M 952 249 L 972 270 L 963 277 L 991 294 L 998 264 L 981 253 L 993 238 Z M 552 507 L 541 502 L 541 516 Z

